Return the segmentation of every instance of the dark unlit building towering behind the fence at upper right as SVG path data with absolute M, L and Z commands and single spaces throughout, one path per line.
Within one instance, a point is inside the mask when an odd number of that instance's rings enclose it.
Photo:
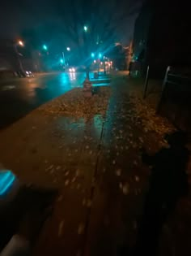
M 168 65 L 191 66 L 189 1 L 146 0 L 134 26 L 134 59 L 142 74 L 163 76 Z

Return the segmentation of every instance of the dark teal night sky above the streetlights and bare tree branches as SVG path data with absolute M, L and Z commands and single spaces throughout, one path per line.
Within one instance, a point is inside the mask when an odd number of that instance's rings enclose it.
M 70 8 L 73 2 L 78 2 L 79 7 L 88 7 L 87 0 L 19 0 L 6 1 L 0 9 L 1 26 L 0 37 L 18 38 L 20 35 L 30 31 L 36 31 L 40 41 L 47 40 L 47 37 L 57 37 L 63 33 L 63 15 L 64 11 L 70 15 Z M 100 2 L 99 7 L 103 13 L 108 12 L 112 16 L 112 12 L 119 13 L 124 10 L 127 15 L 123 19 L 117 21 L 115 28 L 116 39 L 123 43 L 128 43 L 132 38 L 134 20 L 138 14 L 142 0 L 126 0 L 117 1 L 117 9 L 112 9 L 112 1 L 115 0 L 94 0 Z M 109 11 L 108 11 L 109 10 Z M 88 10 L 90 13 L 96 13 L 94 7 Z M 88 20 L 88 19 L 87 19 Z

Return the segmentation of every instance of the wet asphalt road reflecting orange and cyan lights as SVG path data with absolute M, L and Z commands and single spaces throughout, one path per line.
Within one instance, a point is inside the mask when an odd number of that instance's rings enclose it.
M 52 73 L 35 78 L 0 80 L 0 128 L 6 128 L 36 107 L 81 87 L 84 73 Z

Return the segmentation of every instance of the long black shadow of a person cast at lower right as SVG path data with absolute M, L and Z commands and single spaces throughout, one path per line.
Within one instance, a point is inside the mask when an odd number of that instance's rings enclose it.
M 138 239 L 133 255 L 154 256 L 158 249 L 159 235 L 168 215 L 176 208 L 180 197 L 188 193 L 186 167 L 189 150 L 185 147 L 184 132 L 167 135 L 169 148 L 162 148 L 155 155 L 142 153 L 142 162 L 152 166 L 149 191 L 138 227 Z

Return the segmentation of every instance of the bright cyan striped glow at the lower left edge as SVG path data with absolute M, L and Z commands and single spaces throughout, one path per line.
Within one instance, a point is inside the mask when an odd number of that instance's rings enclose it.
M 11 171 L 0 171 L 0 196 L 11 189 L 15 179 L 16 177 Z

